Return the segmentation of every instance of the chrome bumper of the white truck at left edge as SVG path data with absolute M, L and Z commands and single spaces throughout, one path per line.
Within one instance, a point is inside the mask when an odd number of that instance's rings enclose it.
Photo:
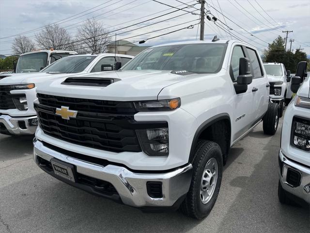
M 0 123 L 3 123 L 7 132 L 13 135 L 33 135 L 37 129 L 36 125 L 30 125 L 29 120 L 37 116 L 12 117 L 9 115 L 0 115 Z M 25 126 L 20 128 L 18 121 L 25 122 Z

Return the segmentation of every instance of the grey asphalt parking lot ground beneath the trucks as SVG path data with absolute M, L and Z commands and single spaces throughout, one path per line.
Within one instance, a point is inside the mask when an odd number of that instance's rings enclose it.
M 281 123 L 276 135 L 262 124 L 233 146 L 211 214 L 144 214 L 56 180 L 32 160 L 32 137 L 0 134 L 1 233 L 306 233 L 310 209 L 277 197 Z

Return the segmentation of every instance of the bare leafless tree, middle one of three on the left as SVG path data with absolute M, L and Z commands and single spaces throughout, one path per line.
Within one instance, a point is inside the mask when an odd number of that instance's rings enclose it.
M 47 25 L 38 34 L 35 34 L 36 42 L 42 49 L 66 50 L 71 46 L 70 34 L 59 25 Z

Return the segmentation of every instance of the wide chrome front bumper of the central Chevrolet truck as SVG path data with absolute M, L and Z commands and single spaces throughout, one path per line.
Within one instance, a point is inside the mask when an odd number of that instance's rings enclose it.
M 35 161 L 36 156 L 39 156 L 47 161 L 56 158 L 74 165 L 79 174 L 111 183 L 122 202 L 134 207 L 171 207 L 188 192 L 191 182 L 191 164 L 166 173 L 133 172 L 123 166 L 101 166 L 72 158 L 47 148 L 35 139 L 33 144 Z M 148 195 L 146 183 L 150 181 L 162 183 L 162 198 L 151 198 Z M 72 185 L 75 186 L 74 183 Z

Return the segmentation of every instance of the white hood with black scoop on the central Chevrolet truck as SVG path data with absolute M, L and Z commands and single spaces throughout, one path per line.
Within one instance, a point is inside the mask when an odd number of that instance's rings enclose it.
M 115 79 L 105 87 L 62 84 L 66 78 L 42 83 L 38 93 L 94 100 L 156 100 L 166 86 L 212 74 L 173 74 L 169 70 L 119 70 L 78 75 L 80 78 Z M 213 74 L 214 75 L 214 74 Z

